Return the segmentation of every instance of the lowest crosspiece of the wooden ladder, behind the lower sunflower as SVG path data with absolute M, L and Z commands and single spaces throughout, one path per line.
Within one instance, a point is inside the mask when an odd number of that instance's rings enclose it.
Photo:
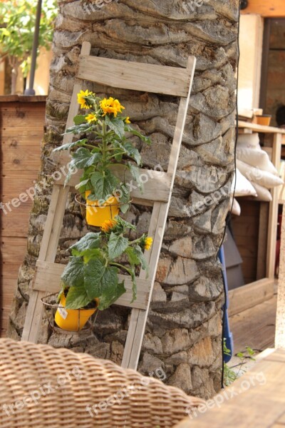
M 58 263 L 47 263 L 38 260 L 36 263 L 36 275 L 33 282 L 33 290 L 44 291 L 48 293 L 58 292 L 60 289 L 61 275 L 65 265 Z M 120 281 L 125 281 L 126 292 L 115 302 L 116 305 L 135 307 L 137 309 L 146 309 L 148 296 L 150 294 L 150 280 L 137 278 L 138 293 L 137 300 L 130 303 L 133 297 L 132 282 L 130 277 L 119 275 Z

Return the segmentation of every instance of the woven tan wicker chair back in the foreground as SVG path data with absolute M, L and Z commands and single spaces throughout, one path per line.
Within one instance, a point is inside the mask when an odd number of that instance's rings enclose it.
M 108 360 L 0 340 L 1 428 L 173 427 L 202 402 Z

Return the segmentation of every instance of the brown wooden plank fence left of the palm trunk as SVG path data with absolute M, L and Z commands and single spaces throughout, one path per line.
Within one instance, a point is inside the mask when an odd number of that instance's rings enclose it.
M 16 199 L 38 176 L 46 110 L 45 96 L 0 96 L 1 141 L 1 336 L 5 335 L 19 267 L 26 255 L 33 204 Z M 18 206 L 19 205 L 19 206 Z

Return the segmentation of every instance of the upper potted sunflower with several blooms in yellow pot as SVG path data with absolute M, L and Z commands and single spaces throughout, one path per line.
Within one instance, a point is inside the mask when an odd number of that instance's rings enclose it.
M 76 148 L 66 183 L 74 168 L 83 170 L 76 189 L 86 200 L 86 221 L 88 225 L 101 226 L 130 206 L 130 190 L 118 175 L 125 176 L 125 171 L 130 170 L 142 191 L 139 170 L 142 161 L 129 136 L 138 136 L 147 144 L 150 138 L 130 126 L 130 118 L 123 116 L 125 107 L 118 99 L 100 98 L 86 90 L 78 93 L 78 103 L 86 113 L 76 116 L 74 126 L 66 133 L 73 133 L 79 139 L 54 151 Z

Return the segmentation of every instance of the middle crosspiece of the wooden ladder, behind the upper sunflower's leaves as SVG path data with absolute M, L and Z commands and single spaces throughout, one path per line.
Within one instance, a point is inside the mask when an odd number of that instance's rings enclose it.
M 61 165 L 66 165 L 68 161 L 70 161 L 70 156 L 68 153 L 61 153 L 58 157 L 56 156 L 55 161 L 59 161 Z M 133 199 L 138 199 L 141 202 L 143 200 L 147 200 L 150 202 L 162 201 L 166 202 L 170 195 L 171 190 L 171 179 L 172 176 L 169 173 L 164 173 L 162 171 L 155 170 L 146 170 L 140 169 L 140 175 L 142 177 L 142 181 L 145 181 L 143 187 L 143 193 L 141 193 L 140 188 L 138 187 L 138 183 L 133 180 L 133 176 L 130 174 L 130 171 L 122 170 L 122 168 L 112 168 L 113 173 L 120 178 L 120 180 L 124 180 L 126 183 L 126 187 L 128 188 L 128 183 L 130 184 L 131 197 Z M 71 180 L 68 185 L 71 188 L 74 188 L 79 183 L 79 179 L 81 178 L 82 170 L 78 170 L 78 172 L 71 176 Z M 64 184 L 65 175 L 63 174 L 61 180 L 56 181 L 58 184 Z M 136 187 L 133 188 L 132 186 Z

